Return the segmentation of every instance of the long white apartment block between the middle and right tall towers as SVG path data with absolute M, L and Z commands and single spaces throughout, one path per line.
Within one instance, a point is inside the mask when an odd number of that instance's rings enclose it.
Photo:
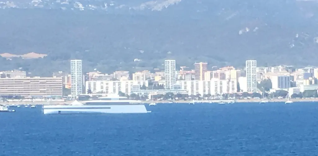
M 236 93 L 237 83 L 236 81 L 219 80 L 212 78 L 210 81 L 177 81 L 177 84 L 181 86 L 181 89 L 188 91 L 189 95 L 197 94 L 225 94 Z

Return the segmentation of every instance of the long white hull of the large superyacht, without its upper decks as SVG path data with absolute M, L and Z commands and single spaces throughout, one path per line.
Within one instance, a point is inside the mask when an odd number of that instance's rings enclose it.
M 43 114 L 148 113 L 145 105 L 51 105 L 42 107 Z

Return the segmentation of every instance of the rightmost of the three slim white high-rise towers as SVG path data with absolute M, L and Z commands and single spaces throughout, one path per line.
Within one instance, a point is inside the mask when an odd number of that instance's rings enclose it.
M 257 92 L 256 60 L 246 60 L 245 63 L 247 92 Z

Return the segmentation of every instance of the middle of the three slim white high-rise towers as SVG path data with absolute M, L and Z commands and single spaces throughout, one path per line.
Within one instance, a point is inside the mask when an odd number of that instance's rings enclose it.
M 174 89 L 176 83 L 176 60 L 164 61 L 164 79 L 166 85 L 165 89 Z

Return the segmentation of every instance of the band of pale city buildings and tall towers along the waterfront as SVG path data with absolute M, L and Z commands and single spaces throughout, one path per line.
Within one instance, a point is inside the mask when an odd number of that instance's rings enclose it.
M 142 70 L 135 73 L 115 71 L 112 74 L 105 74 L 97 70 L 83 73 L 82 61 L 71 60 L 72 72 L 70 74 L 59 71 L 53 73 L 53 77 L 61 77 L 61 83 L 65 88 L 70 88 L 70 95 L 73 97 L 85 94 L 88 90 L 90 93 L 106 94 L 148 92 L 156 94 L 156 91 L 165 89 L 165 92 L 186 92 L 189 95 L 218 95 L 242 92 L 259 93 L 263 90 L 266 92 L 286 90 L 290 93 L 300 93 L 306 89 L 318 88 L 318 68 L 257 67 L 257 60 L 246 60 L 245 70 L 229 66 L 207 69 L 207 65 L 206 62 L 199 62 L 193 64 L 193 69 L 181 67 L 180 70 L 176 70 L 176 60 L 165 60 L 165 70 L 156 69 L 154 73 Z M 14 79 L 26 77 L 26 73 L 19 70 L 3 71 L 0 74 L 1 78 L 9 78 L 14 82 L 12 86 L 18 85 L 13 81 Z M 271 80 L 270 87 L 263 84 L 263 81 L 267 80 Z M 76 86 L 78 87 L 76 88 Z M 38 89 L 40 88 L 38 87 Z M 15 94 L 18 93 L 15 92 Z

